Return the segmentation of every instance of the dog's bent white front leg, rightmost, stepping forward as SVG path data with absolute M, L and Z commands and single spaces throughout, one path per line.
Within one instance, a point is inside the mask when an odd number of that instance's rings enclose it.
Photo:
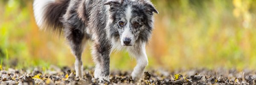
M 131 73 L 132 79 L 140 79 L 145 67 L 148 65 L 148 57 L 145 51 L 145 44 L 134 47 L 129 50 L 130 54 L 133 55 L 137 60 L 137 65 L 134 71 Z

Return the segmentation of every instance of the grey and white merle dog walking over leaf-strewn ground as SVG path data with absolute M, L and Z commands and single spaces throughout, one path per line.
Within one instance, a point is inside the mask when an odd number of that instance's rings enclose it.
M 99 80 L 109 81 L 115 48 L 126 49 L 137 59 L 133 79 L 140 78 L 148 65 L 145 45 L 158 13 L 149 0 L 35 0 L 33 9 L 41 29 L 64 32 L 76 57 L 76 77 L 83 77 L 81 54 L 87 40 L 93 41 L 94 77 Z

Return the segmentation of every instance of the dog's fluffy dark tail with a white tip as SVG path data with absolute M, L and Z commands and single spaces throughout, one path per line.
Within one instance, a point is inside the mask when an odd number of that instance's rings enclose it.
M 61 17 L 66 12 L 70 0 L 34 0 L 33 9 L 40 29 L 61 34 Z

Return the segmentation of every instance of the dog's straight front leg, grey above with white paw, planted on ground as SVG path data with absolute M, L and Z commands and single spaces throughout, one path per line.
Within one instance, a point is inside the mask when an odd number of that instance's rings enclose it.
M 101 82 L 103 79 L 109 81 L 109 64 L 110 64 L 110 46 L 104 42 L 100 44 L 96 41 L 93 43 L 92 56 L 96 64 L 94 77 L 99 78 Z

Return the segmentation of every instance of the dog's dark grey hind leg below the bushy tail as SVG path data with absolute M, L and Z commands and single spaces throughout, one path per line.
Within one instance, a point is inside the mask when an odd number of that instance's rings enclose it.
M 79 20 L 78 16 L 70 16 L 71 14 L 64 15 L 64 32 L 71 47 L 72 53 L 76 57 L 75 70 L 76 77 L 83 77 L 83 64 L 81 60 L 81 55 L 84 50 L 84 44 L 87 40 L 85 29 L 85 24 Z M 74 15 L 74 14 L 73 14 Z M 75 21 L 76 20 L 76 21 Z

